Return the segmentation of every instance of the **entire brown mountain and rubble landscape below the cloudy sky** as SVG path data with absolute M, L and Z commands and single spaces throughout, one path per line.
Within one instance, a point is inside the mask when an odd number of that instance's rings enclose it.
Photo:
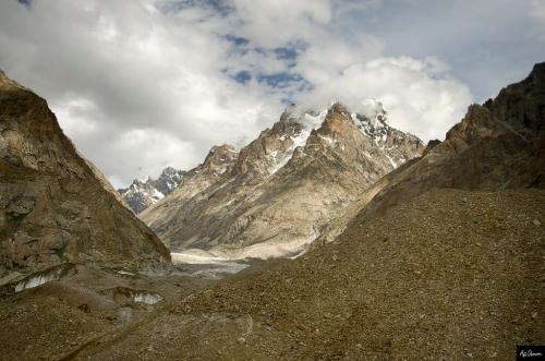
M 1 358 L 512 359 L 543 345 L 545 63 L 426 147 L 372 105 L 288 107 L 241 149 L 170 172 L 180 182 L 141 221 L 1 73 Z M 246 268 L 170 262 L 193 248 Z

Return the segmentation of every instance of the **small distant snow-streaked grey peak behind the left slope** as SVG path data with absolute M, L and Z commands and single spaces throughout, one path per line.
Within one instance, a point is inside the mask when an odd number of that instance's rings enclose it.
M 165 195 L 172 193 L 182 181 L 184 173 L 183 170 L 167 167 L 157 179 L 148 178 L 146 181 L 135 179 L 129 188 L 120 189 L 118 192 L 131 209 L 138 214 L 162 200 Z

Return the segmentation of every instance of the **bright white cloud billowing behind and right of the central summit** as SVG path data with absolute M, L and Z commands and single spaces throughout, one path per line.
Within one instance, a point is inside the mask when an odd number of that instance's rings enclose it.
M 312 93 L 301 96 L 302 103 L 319 107 L 337 99 L 358 110 L 363 99 L 376 98 L 389 112 L 393 127 L 424 141 L 443 139 L 471 103 L 468 87 L 434 58 L 376 58 L 320 81 Z

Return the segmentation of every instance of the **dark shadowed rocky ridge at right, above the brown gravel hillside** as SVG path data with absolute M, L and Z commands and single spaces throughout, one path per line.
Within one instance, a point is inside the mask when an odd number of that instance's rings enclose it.
M 494 100 L 472 105 L 446 140 L 425 152 L 367 206 L 384 210 L 433 188 L 545 189 L 545 63 Z

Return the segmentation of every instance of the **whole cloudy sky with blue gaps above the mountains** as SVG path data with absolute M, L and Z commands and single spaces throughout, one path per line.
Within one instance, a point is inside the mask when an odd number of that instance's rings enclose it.
M 287 104 L 443 139 L 545 61 L 545 0 L 3 0 L 0 68 L 116 186 L 241 146 Z

